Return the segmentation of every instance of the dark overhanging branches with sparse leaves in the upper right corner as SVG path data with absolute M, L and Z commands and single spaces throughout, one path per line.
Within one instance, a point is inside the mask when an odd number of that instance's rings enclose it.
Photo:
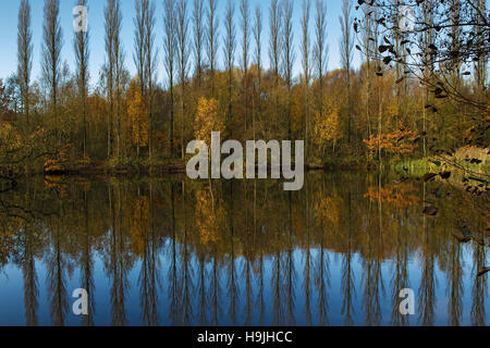
M 462 74 L 470 75 L 470 65 L 489 54 L 488 45 L 479 45 L 481 37 L 488 36 L 490 30 L 485 4 L 481 7 L 474 0 L 409 2 L 406 9 L 412 13 L 424 15 L 430 12 L 413 25 L 400 25 L 396 21 L 399 5 L 397 1 L 373 2 L 370 5 L 372 11 L 369 16 L 382 25 L 380 35 L 383 37 L 383 42 L 370 50 L 370 54 L 379 52 L 387 62 L 401 64 L 407 73 L 429 85 L 439 99 L 450 97 L 456 102 L 485 110 L 487 102 L 479 103 L 451 78 L 460 67 L 464 69 Z M 366 30 L 359 18 L 356 18 L 356 28 L 358 32 Z M 429 47 L 426 47 L 427 39 L 424 39 L 426 35 L 431 36 Z M 397 37 L 404 38 L 400 45 L 393 41 Z

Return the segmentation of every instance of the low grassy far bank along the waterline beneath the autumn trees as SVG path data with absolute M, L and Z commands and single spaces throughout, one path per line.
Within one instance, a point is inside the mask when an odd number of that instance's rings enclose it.
M 44 165 L 17 166 L 0 172 L 7 177 L 19 175 L 108 175 L 108 176 L 166 176 L 185 174 L 189 159 L 110 159 L 108 161 L 47 161 Z M 439 156 L 419 159 L 385 159 L 381 163 L 365 157 L 327 158 L 323 160 L 306 161 L 305 171 L 373 171 L 389 170 L 404 176 L 422 176 L 426 173 L 443 171 L 461 172 L 488 176 L 490 174 L 490 156 L 485 153 L 456 153 L 446 157 Z M 9 174 L 10 173 L 10 174 Z M 8 175 L 9 174 L 9 175 Z

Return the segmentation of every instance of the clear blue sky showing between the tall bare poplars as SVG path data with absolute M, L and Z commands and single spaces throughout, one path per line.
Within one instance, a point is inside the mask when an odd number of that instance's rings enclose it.
M 0 54 L 0 78 L 5 78 L 12 73 L 16 71 L 16 30 L 17 30 L 17 11 L 20 0 L 0 0 L 1 1 L 1 11 L 0 11 L 0 45 L 1 51 Z M 189 10 L 192 10 L 192 0 L 189 1 Z M 220 20 L 220 34 L 222 35 L 224 32 L 223 28 L 223 12 L 228 0 L 219 0 L 218 9 L 219 9 L 219 20 Z M 238 15 L 238 0 L 236 1 L 236 40 L 237 40 L 237 50 L 236 50 L 236 60 L 235 63 L 238 64 L 238 57 L 241 51 L 241 37 L 242 32 L 240 27 L 240 15 Z M 63 29 L 63 50 L 62 50 L 62 60 L 66 61 L 70 65 L 71 71 L 74 69 L 74 53 L 73 53 L 73 8 L 75 5 L 75 0 L 61 0 L 61 25 Z M 302 2 L 303 0 L 294 1 L 294 44 L 296 51 L 296 61 L 295 61 L 295 75 L 297 75 L 301 71 L 301 51 L 299 51 L 299 42 L 301 42 L 301 16 L 302 16 Z M 336 69 L 340 66 L 340 55 L 339 55 L 339 39 L 340 39 L 340 24 L 339 24 L 339 15 L 341 14 L 342 1 L 340 0 L 326 0 L 327 10 L 328 10 L 328 41 L 329 41 L 329 70 Z M 357 2 L 357 1 L 354 1 Z M 255 9 L 256 4 L 260 4 L 262 7 L 264 14 L 264 35 L 262 35 L 262 52 L 264 52 L 264 64 L 268 67 L 268 40 L 269 40 L 269 25 L 268 25 L 268 15 L 269 15 L 269 0 L 250 0 L 250 8 Z M 126 67 L 130 70 L 132 74 L 135 72 L 134 63 L 133 63 L 133 40 L 134 40 L 134 0 L 121 0 L 122 4 L 122 13 L 123 13 L 123 25 L 122 25 L 122 41 L 124 46 L 124 50 L 126 52 Z M 314 26 L 314 9 L 315 0 L 311 1 L 311 38 L 314 37 L 313 26 Z M 42 9 L 44 1 L 42 0 L 30 0 L 32 5 L 32 26 L 34 34 L 34 59 L 33 59 L 33 79 L 37 79 L 40 76 L 40 48 L 42 40 Z M 103 8 L 106 5 L 106 0 L 88 0 L 89 7 L 89 27 L 90 27 L 90 75 L 91 83 L 96 83 L 99 76 L 100 66 L 105 61 L 105 46 L 103 46 Z M 162 1 L 156 0 L 156 18 L 157 18 L 157 32 L 156 32 L 156 42 L 159 47 L 160 57 L 159 57 L 159 71 L 158 71 L 158 82 L 166 84 L 166 76 L 163 73 L 162 66 L 162 42 L 163 42 L 163 29 L 162 29 Z M 353 9 L 353 15 L 356 15 L 355 9 Z M 189 33 L 191 34 L 191 33 Z M 222 46 L 222 36 L 220 39 L 220 45 Z M 355 62 L 358 65 L 358 57 L 357 52 L 354 49 L 353 51 L 355 55 Z M 221 64 L 222 49 L 219 52 L 219 62 Z

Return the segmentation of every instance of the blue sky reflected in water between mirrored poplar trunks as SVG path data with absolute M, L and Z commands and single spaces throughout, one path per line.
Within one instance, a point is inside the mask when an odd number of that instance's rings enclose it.
M 313 249 L 311 258 L 317 259 L 319 256 L 318 249 Z M 161 260 L 161 269 L 166 270 L 169 268 L 169 259 L 164 257 L 167 252 L 160 252 Z M 329 268 L 329 276 L 326 277 L 329 284 L 327 286 L 327 302 L 328 302 L 328 323 L 330 325 L 343 325 L 345 315 L 342 313 L 342 293 L 341 293 L 341 277 L 342 277 L 342 260 L 343 256 L 341 253 L 328 252 L 326 251 L 326 262 Z M 303 250 L 294 251 L 294 269 L 296 270 L 296 283 L 294 285 L 294 320 L 296 325 L 307 325 L 305 320 L 305 294 L 304 294 L 304 266 L 305 266 L 305 252 Z M 464 247 L 462 252 L 462 265 L 463 265 L 463 294 L 462 303 L 463 303 L 463 314 L 462 314 L 462 325 L 470 325 L 470 306 L 471 306 L 471 286 L 475 278 L 475 273 L 471 272 L 471 250 L 469 248 Z M 264 299 L 265 299 L 265 315 L 264 322 L 259 321 L 258 307 L 255 298 L 255 303 L 252 306 L 253 314 L 252 314 L 252 324 L 265 324 L 265 325 L 273 325 L 274 324 L 274 315 L 273 315 L 273 288 L 270 286 L 271 284 L 271 273 L 273 265 L 273 258 L 268 257 L 265 260 L 265 276 L 264 276 Z M 244 259 L 237 258 L 235 260 L 235 268 L 237 271 L 244 268 Z M 194 269 L 197 269 L 197 260 L 193 259 Z M 128 325 L 139 325 L 140 321 L 140 299 L 139 299 L 139 289 L 137 286 L 138 283 L 138 269 L 140 268 L 140 262 L 134 264 L 133 270 L 128 273 L 130 279 L 130 288 L 126 298 L 126 316 Z M 379 310 L 381 313 L 381 325 L 390 325 L 392 309 L 393 309 L 393 297 L 392 297 L 392 287 L 390 286 L 390 281 L 393 277 L 395 264 L 392 261 L 382 261 L 381 263 L 381 274 L 384 291 L 380 289 L 379 294 Z M 207 269 L 211 271 L 212 264 L 207 264 Z M 354 273 L 354 284 L 355 284 L 355 296 L 353 296 L 352 300 L 352 309 L 353 309 L 353 322 L 355 325 L 365 325 L 366 324 L 366 313 L 363 307 L 363 266 L 362 260 L 358 254 L 353 254 L 352 257 L 352 270 Z M 448 324 L 448 301 L 449 301 L 449 293 L 446 291 L 448 279 L 444 273 L 438 271 L 436 266 L 436 276 L 437 276 L 437 287 L 436 287 L 436 316 L 434 316 L 434 325 L 446 325 Z M 46 270 L 42 266 L 42 263 L 37 261 L 37 271 L 39 279 L 46 278 Z M 238 272 L 240 274 L 240 272 Z M 418 325 L 419 319 L 419 303 L 417 302 L 418 298 L 418 287 L 420 284 L 421 270 L 419 268 L 419 261 L 415 256 L 411 256 L 408 262 L 408 274 L 409 274 L 409 286 L 414 287 L 416 293 L 416 314 L 408 315 L 408 324 L 409 325 Z M 164 278 L 167 276 L 167 272 L 162 271 L 162 285 L 163 289 L 158 291 L 158 316 L 160 325 L 171 325 L 171 321 L 169 318 L 169 308 L 170 301 L 167 295 L 166 282 Z M 73 291 L 73 289 L 78 287 L 77 279 L 79 278 L 79 271 L 75 271 L 73 273 L 72 279 L 66 279 L 66 289 L 69 294 Z M 242 278 L 240 278 L 242 279 Z M 209 282 L 211 279 L 207 278 L 207 288 L 209 288 Z M 311 279 L 311 296 L 310 296 L 310 315 L 313 324 L 317 324 L 317 319 L 319 316 L 319 294 L 314 285 L 315 279 Z M 107 278 L 106 273 L 103 271 L 103 264 L 100 259 L 96 258 L 95 266 L 94 266 L 94 283 L 95 283 L 95 299 L 96 299 L 96 315 L 95 315 L 95 324 L 96 325 L 110 325 L 111 324 L 111 299 L 110 299 L 110 281 Z M 257 297 L 257 279 L 255 279 L 253 294 Z M 228 277 L 225 276 L 224 270 L 220 272 L 220 284 L 221 284 L 221 294 L 226 294 L 228 289 L 225 285 L 228 284 Z M 8 265 L 2 270 L 0 276 L 0 325 L 25 325 L 24 318 L 24 301 L 23 301 L 23 279 L 22 272 L 15 265 Z M 243 325 L 245 324 L 245 311 L 246 311 L 246 294 L 245 294 L 245 284 L 243 281 L 237 282 L 237 315 L 236 315 L 236 324 Z M 283 291 L 287 291 L 286 288 L 282 288 Z M 282 303 L 282 313 L 283 319 L 280 324 L 287 325 L 287 293 L 283 293 L 284 302 Z M 50 314 L 49 314 L 49 303 L 47 302 L 47 290 L 46 283 L 39 282 L 39 306 L 38 306 L 38 320 L 41 325 L 49 325 Z M 75 299 L 69 298 L 70 308 Z M 198 294 L 194 293 L 191 297 L 192 304 L 191 308 L 193 312 L 198 308 Z M 486 299 L 486 312 L 487 320 L 489 313 L 489 298 L 487 296 Z M 221 315 L 219 320 L 220 325 L 231 325 L 232 322 L 229 315 L 229 307 L 230 307 L 230 298 L 228 296 L 221 296 L 219 298 L 219 304 L 221 309 Z M 211 309 L 208 309 L 208 314 L 212 312 Z M 198 324 L 195 318 L 195 313 L 193 315 L 194 320 L 191 321 L 191 324 Z M 66 325 L 79 325 L 79 318 L 69 311 L 66 316 Z

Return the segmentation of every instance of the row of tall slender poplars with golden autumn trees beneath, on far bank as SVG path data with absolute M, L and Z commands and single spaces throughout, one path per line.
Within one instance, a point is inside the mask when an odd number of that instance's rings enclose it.
M 302 0 L 298 33 L 293 0 L 270 0 L 267 13 L 249 0 L 222 1 L 220 18 L 217 0 L 163 0 L 160 21 L 154 0 L 135 0 L 131 76 L 120 0 L 107 0 L 106 63 L 89 86 L 90 28 L 74 35 L 72 73 L 61 57 L 59 0 L 45 1 L 42 77 L 32 80 L 30 5 L 22 0 L 19 69 L 2 120 L 25 134 L 42 127 L 53 148 L 69 145 L 76 161 L 184 158 L 186 142 L 201 130 L 197 114 L 224 123 L 231 138 L 305 139 L 308 161 L 319 164 L 329 157 L 428 156 L 468 139 L 485 146 L 485 134 L 475 133 L 488 124 L 485 1 L 358 1 L 354 13 L 355 3 L 343 0 L 335 71 L 328 69 L 327 27 L 336 24 L 324 0 Z M 406 29 L 401 9 L 422 21 Z M 294 76 L 296 62 L 302 69 Z M 216 113 L 199 110 L 215 102 Z M 439 137 L 429 139 L 431 133 Z

